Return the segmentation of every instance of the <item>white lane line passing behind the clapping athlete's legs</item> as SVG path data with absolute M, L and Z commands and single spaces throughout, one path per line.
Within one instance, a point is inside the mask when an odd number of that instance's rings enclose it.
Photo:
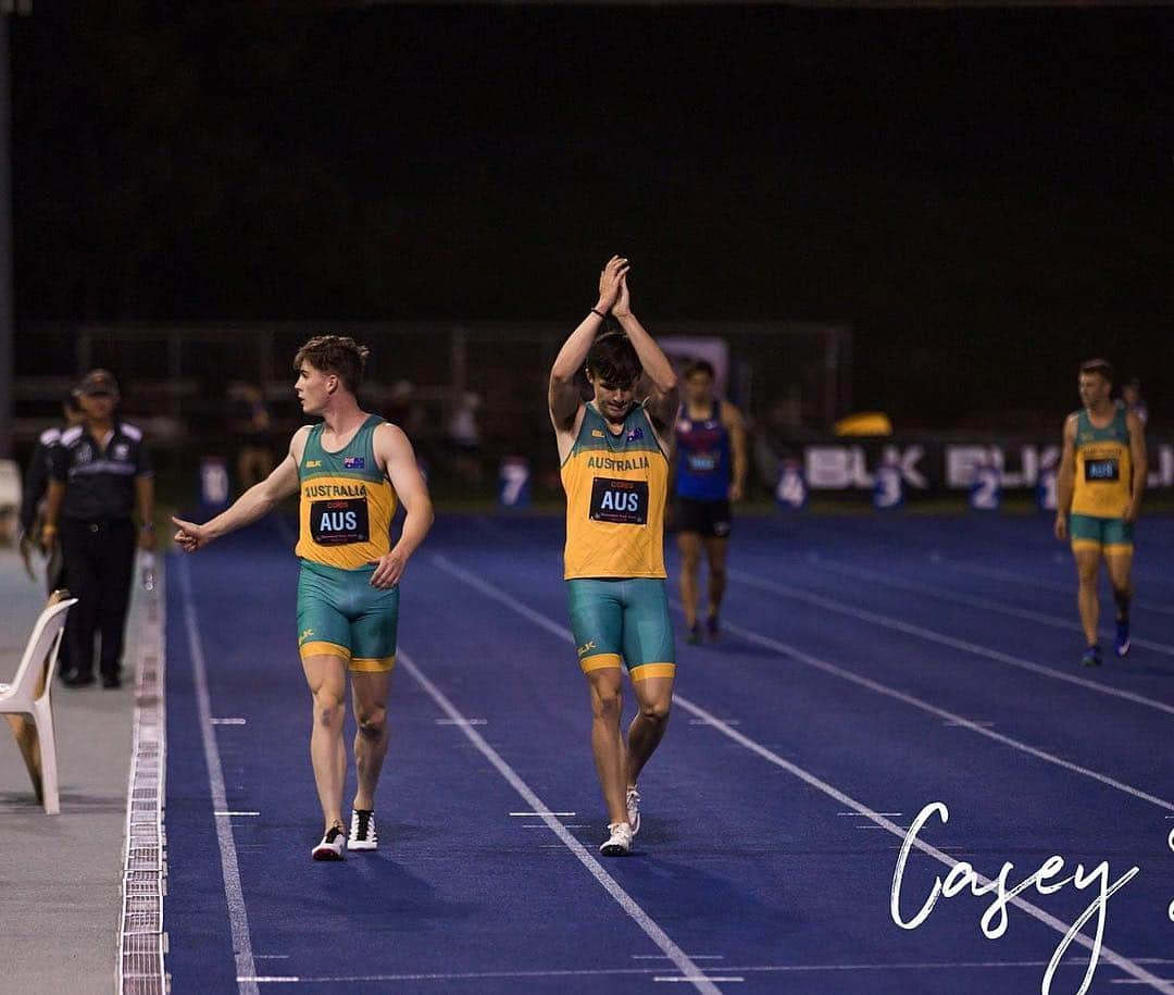
M 487 584 L 484 580 L 481 580 L 480 577 L 477 577 L 475 574 L 470 573 L 467 570 L 464 570 L 463 567 L 457 566 L 456 564 L 453 564 L 451 560 L 446 559 L 443 556 L 433 553 L 432 554 L 432 562 L 434 564 L 437 564 L 437 566 L 439 566 L 445 572 L 451 573 L 453 577 L 457 577 L 458 579 L 464 580 L 466 584 L 470 584 L 470 586 L 475 587 L 478 591 L 481 591 L 483 593 L 486 594 L 486 597 L 492 598 L 493 600 L 495 600 L 495 601 L 502 604 L 502 605 L 506 605 L 507 607 L 512 609 L 513 611 L 515 611 L 518 614 L 522 616 L 524 618 L 531 619 L 532 621 L 534 621 L 535 625 L 540 626 L 541 628 L 545 628 L 548 632 L 553 632 L 553 633 L 558 634 L 562 639 L 562 641 L 569 643 L 571 645 L 574 645 L 574 636 L 572 634 L 571 630 L 565 628 L 561 625 L 558 625 L 556 623 L 554 623 L 551 619 L 546 618 L 546 616 L 542 616 L 539 612 L 537 612 L 533 609 L 531 609 L 528 605 L 522 604 L 517 598 L 514 598 L 514 597 L 512 597 L 510 594 L 506 594 L 504 591 L 499 591 L 497 587 L 493 587 L 490 584 Z M 727 628 L 729 628 L 728 625 L 727 625 Z M 865 680 L 864 678 L 859 678 L 859 679 L 861 680 Z M 906 831 L 902 826 L 898 826 L 896 822 L 892 822 L 889 819 L 884 818 L 879 813 L 877 813 L 873 809 L 869 808 L 863 802 L 857 801 L 855 798 L 852 798 L 849 794 L 845 794 L 844 792 L 842 792 L 839 788 L 835 787 L 834 785 L 830 785 L 826 781 L 821 780 L 819 778 L 817 778 L 815 774 L 810 773 L 809 771 L 805 771 L 804 768 L 799 767 L 796 764 L 791 764 L 785 758 L 780 757 L 774 751 L 768 749 L 765 746 L 762 746 L 761 744 L 758 744 L 755 740 L 750 739 L 744 733 L 738 732 L 733 726 L 727 725 L 721 719 L 718 719 L 716 715 L 711 714 L 710 712 L 707 712 L 700 705 L 695 705 L 693 701 L 690 701 L 684 695 L 682 695 L 682 694 L 674 694 L 673 695 L 673 700 L 674 700 L 674 702 L 676 705 L 679 705 L 681 708 L 683 708 L 690 715 L 694 715 L 695 718 L 699 718 L 699 719 L 708 719 L 709 722 L 711 725 L 714 725 L 714 727 L 718 732 L 721 732 L 724 735 L 729 737 L 735 742 L 741 744 L 747 749 L 749 749 L 751 753 L 755 753 L 758 757 L 761 757 L 762 759 L 767 760 L 768 762 L 774 764 L 776 767 L 780 767 L 783 771 L 787 771 L 789 774 L 791 774 L 792 776 L 795 776 L 798 780 L 803 781 L 805 785 L 808 785 L 810 787 L 814 787 L 816 791 L 822 792 L 823 794 L 828 795 L 829 798 L 838 801 L 845 808 L 852 808 L 852 809 L 855 809 L 857 813 L 859 813 L 861 815 L 863 815 L 870 822 L 876 822 L 878 826 L 883 826 L 884 828 L 886 828 L 892 835 L 895 835 L 902 842 L 905 841 Z M 951 718 L 957 718 L 957 717 L 951 715 Z M 991 735 L 991 737 L 997 737 L 998 735 L 998 733 L 990 732 L 989 730 L 978 730 L 978 731 L 981 732 L 984 735 Z M 466 732 L 467 732 L 468 735 L 477 735 L 477 733 L 474 733 L 472 730 L 467 730 Z M 1003 737 L 999 737 L 999 738 L 1004 739 Z M 1161 799 L 1154 799 L 1154 801 L 1156 801 L 1158 804 L 1160 804 L 1160 805 L 1162 805 L 1165 807 L 1174 808 L 1174 806 L 1170 806 L 1169 802 L 1163 802 L 1163 801 L 1161 801 Z M 949 854 L 943 853 L 937 847 L 935 847 L 935 846 L 925 842 L 924 840 L 922 840 L 918 836 L 913 838 L 912 845 L 913 845 L 913 848 L 920 851 L 924 854 L 927 854 L 929 856 L 932 856 L 935 860 L 937 860 L 939 863 L 945 865 L 951 870 L 954 867 L 957 867 L 958 863 L 959 863 L 959 861 L 956 861 Z M 994 881 L 992 881 L 990 878 L 986 878 L 986 876 L 979 874 L 977 870 L 974 870 L 974 878 L 976 878 L 976 880 L 978 880 L 980 882 L 980 885 L 983 887 L 990 888 L 992 892 L 997 887 L 996 883 L 994 883 Z M 1032 905 L 1030 901 L 1027 901 L 1026 899 L 1024 899 L 1021 895 L 1016 895 L 1014 897 L 1010 899 L 1008 903 L 1016 906 L 1017 908 L 1023 909 L 1030 916 L 1032 916 L 1032 919 L 1035 919 L 1039 922 L 1043 922 L 1045 926 L 1050 926 L 1052 929 L 1054 929 L 1061 936 L 1066 936 L 1067 935 L 1067 933 L 1068 933 L 1068 923 L 1062 922 L 1061 920 L 1057 919 L 1051 913 L 1045 912 L 1044 909 L 1039 908 L 1038 906 Z M 1082 933 L 1077 933 L 1073 936 L 1072 942 L 1077 943 L 1078 946 L 1084 947 L 1085 949 L 1087 949 L 1089 952 L 1092 952 L 1093 948 L 1094 948 L 1094 946 L 1095 946 L 1093 943 L 1093 941 L 1089 940 L 1087 936 L 1085 936 Z M 1106 946 L 1101 946 L 1101 948 L 1100 948 L 1100 959 L 1102 961 L 1107 962 L 1107 963 L 1113 964 L 1114 967 L 1116 967 L 1118 969 L 1120 969 L 1125 974 L 1128 974 L 1132 977 L 1136 977 L 1136 979 L 1143 981 L 1145 983 L 1151 984 L 1152 987 L 1156 988 L 1159 991 L 1170 993 L 1170 995 L 1174 995 L 1174 987 L 1168 986 L 1160 977 L 1156 977 L 1155 975 L 1151 974 L 1145 968 L 1142 968 L 1140 964 L 1138 964 L 1135 961 L 1129 960 L 1128 957 L 1126 957 L 1126 956 L 1116 953 L 1115 950 L 1113 950 L 1113 949 L 1111 949 L 1111 948 L 1108 948 Z M 684 972 L 684 970 L 682 970 L 681 973 L 682 974 L 687 974 L 687 972 Z

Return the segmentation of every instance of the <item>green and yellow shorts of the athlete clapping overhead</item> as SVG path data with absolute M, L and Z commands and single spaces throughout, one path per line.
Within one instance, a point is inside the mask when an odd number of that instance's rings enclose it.
M 567 600 L 583 673 L 621 663 L 633 680 L 676 673 L 662 579 L 576 578 L 567 581 Z

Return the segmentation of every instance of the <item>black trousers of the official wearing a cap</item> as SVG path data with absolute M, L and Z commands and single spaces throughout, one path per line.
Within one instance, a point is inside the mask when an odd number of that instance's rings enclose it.
M 129 518 L 61 523 L 66 586 L 77 598 L 66 621 L 69 664 L 77 673 L 94 671 L 94 636 L 102 638 L 100 667 L 116 677 L 135 573 L 135 526 Z

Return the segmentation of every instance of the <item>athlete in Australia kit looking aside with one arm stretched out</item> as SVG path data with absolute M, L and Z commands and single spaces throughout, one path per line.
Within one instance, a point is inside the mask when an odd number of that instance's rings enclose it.
M 310 759 L 325 821 L 315 860 L 342 860 L 375 849 L 375 789 L 387 751 L 387 691 L 396 663 L 399 579 L 432 525 L 432 503 L 412 445 L 397 426 L 358 406 L 356 391 L 367 349 L 352 338 L 322 335 L 294 357 L 302 410 L 323 418 L 294 433 L 285 459 L 223 513 L 203 525 L 173 520 L 187 552 L 256 522 L 301 490 L 297 626 L 302 667 L 313 697 Z M 402 500 L 407 515 L 391 545 L 391 519 Z M 343 822 L 346 751 L 346 671 L 358 733 L 358 789 L 351 826 Z

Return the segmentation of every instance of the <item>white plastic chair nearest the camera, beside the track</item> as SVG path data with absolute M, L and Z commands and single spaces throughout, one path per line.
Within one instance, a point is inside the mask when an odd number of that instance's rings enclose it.
M 61 811 L 58 798 L 58 741 L 53 730 L 53 672 L 58 668 L 58 647 L 66 624 L 66 616 L 76 598 L 53 601 L 41 612 L 28 637 L 12 684 L 0 684 L 0 714 L 8 718 L 38 801 L 49 815 Z M 32 718 L 29 728 L 25 717 Z

